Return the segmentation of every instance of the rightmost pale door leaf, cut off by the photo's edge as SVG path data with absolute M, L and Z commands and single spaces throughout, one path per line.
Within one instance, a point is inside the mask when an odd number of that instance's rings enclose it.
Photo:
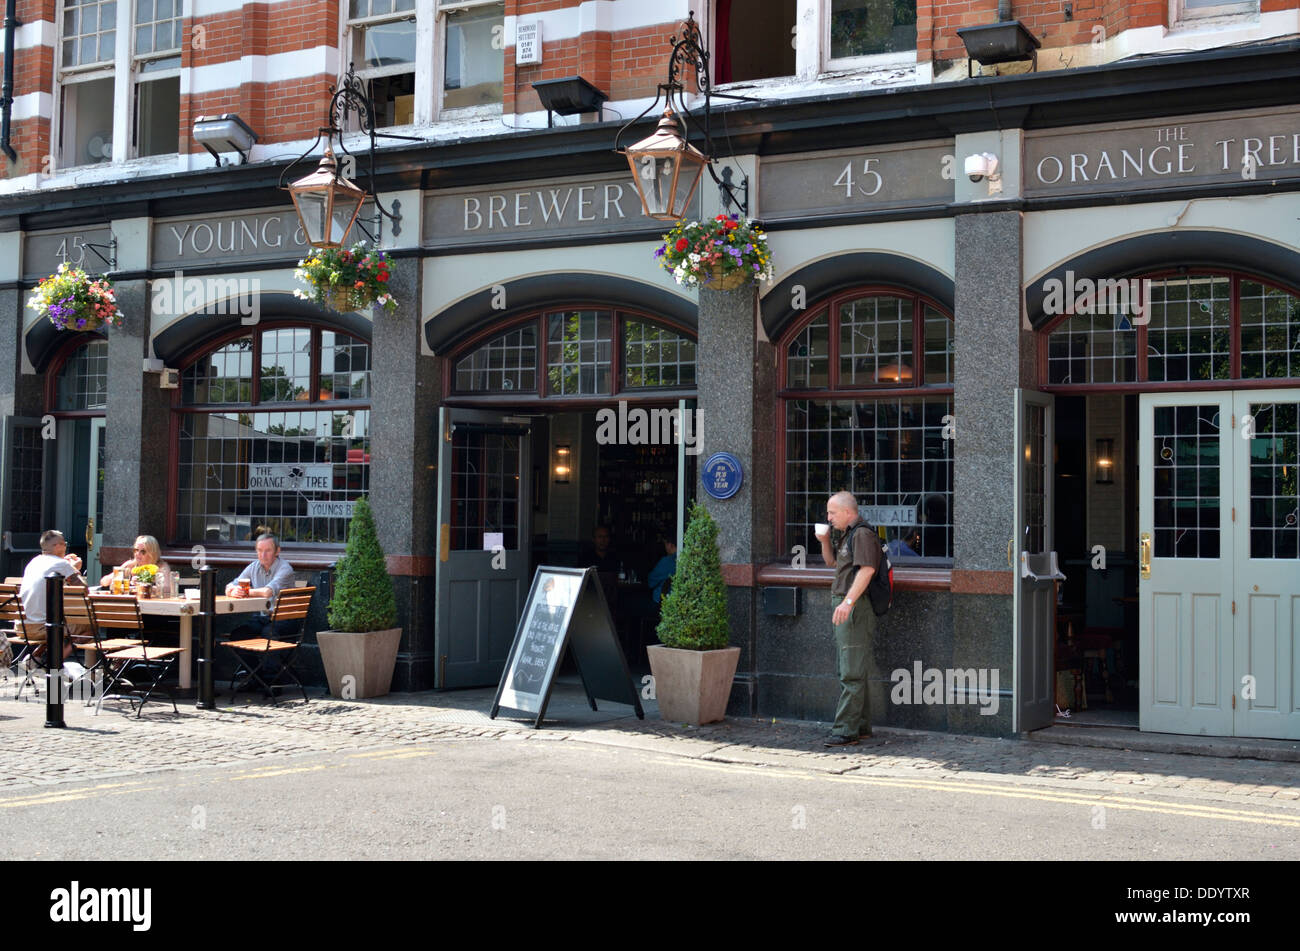
M 1300 739 L 1300 390 L 1238 392 L 1235 733 Z

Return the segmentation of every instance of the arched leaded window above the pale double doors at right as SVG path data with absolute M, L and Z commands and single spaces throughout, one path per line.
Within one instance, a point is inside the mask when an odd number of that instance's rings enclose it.
M 1102 292 L 1101 286 L 1106 286 Z M 1300 377 L 1300 296 L 1197 270 L 1097 282 L 1045 334 L 1048 385 L 1197 385 Z

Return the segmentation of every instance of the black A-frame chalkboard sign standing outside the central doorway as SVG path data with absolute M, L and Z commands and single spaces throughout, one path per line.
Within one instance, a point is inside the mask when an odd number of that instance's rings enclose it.
M 627 703 L 645 720 L 595 569 L 547 565 L 540 565 L 533 574 L 491 718 L 507 707 L 536 713 L 533 728 L 541 726 L 566 646 L 573 653 L 592 709 L 597 699 Z

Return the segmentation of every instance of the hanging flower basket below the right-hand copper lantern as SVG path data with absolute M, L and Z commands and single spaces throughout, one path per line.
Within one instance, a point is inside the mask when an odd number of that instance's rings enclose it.
M 719 214 L 710 221 L 679 221 L 654 252 L 659 266 L 684 287 L 733 291 L 772 279 L 767 235 L 750 218 Z

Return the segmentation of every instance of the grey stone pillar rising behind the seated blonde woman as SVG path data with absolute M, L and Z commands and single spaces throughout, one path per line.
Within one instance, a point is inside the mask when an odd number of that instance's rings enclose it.
M 172 391 L 144 372 L 150 335 L 146 281 L 113 290 L 124 325 L 108 329 L 108 408 L 104 413 L 104 564 L 130 555 L 136 535 L 166 537 Z

